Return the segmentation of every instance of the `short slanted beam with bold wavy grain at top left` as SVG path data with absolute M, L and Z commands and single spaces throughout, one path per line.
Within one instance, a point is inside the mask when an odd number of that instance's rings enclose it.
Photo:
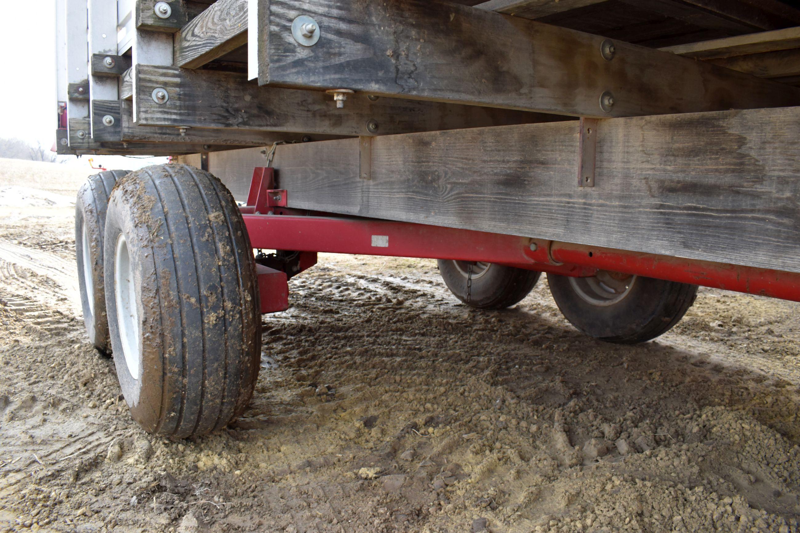
M 247 42 L 247 0 L 218 0 L 175 36 L 175 66 L 196 69 Z

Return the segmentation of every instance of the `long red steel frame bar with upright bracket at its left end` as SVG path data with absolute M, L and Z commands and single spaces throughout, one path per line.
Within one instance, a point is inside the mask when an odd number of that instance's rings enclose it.
M 273 189 L 272 169 L 256 169 L 242 207 L 255 249 L 486 261 L 564 276 L 598 270 L 800 301 L 800 273 L 574 245 L 469 229 L 354 217 L 307 216 Z M 263 213 L 263 214 L 262 214 Z

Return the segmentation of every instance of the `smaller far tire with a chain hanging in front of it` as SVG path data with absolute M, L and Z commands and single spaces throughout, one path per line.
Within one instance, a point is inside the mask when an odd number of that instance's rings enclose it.
M 458 300 L 479 309 L 505 309 L 528 296 L 541 272 L 493 263 L 472 263 L 472 285 L 468 287 L 470 263 L 438 261 L 447 288 Z

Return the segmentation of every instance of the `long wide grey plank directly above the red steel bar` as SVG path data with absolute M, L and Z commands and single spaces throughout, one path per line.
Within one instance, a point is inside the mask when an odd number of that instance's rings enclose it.
M 800 272 L 800 108 L 601 121 L 579 189 L 576 122 L 279 146 L 289 206 Z

